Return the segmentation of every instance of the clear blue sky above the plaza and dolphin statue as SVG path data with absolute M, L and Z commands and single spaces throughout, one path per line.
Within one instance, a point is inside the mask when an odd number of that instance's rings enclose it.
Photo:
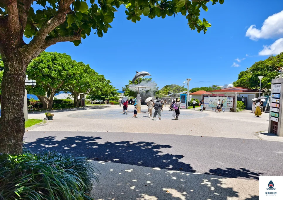
M 67 53 L 76 61 L 90 64 L 119 90 L 132 80 L 135 71 L 151 73 L 159 88 L 183 85 L 186 78 L 192 78 L 190 88 L 194 88 L 236 81 L 240 71 L 268 57 L 259 55 L 263 45 L 272 45 L 283 37 L 282 33 L 269 37 L 269 33 L 258 30 L 269 16 L 282 10 L 282 0 L 225 0 L 223 5 L 209 3 L 208 8 L 200 16 L 212 24 L 206 34 L 190 30 L 181 15 L 165 19 L 142 16 L 141 21 L 132 23 L 126 19 L 125 8 L 120 7 L 111 23 L 113 28 L 102 38 L 91 34 L 79 47 L 63 42 L 46 51 Z M 256 27 L 251 27 L 246 37 L 251 25 Z M 278 51 L 278 44 L 274 48 Z M 263 54 L 270 52 L 267 49 Z

